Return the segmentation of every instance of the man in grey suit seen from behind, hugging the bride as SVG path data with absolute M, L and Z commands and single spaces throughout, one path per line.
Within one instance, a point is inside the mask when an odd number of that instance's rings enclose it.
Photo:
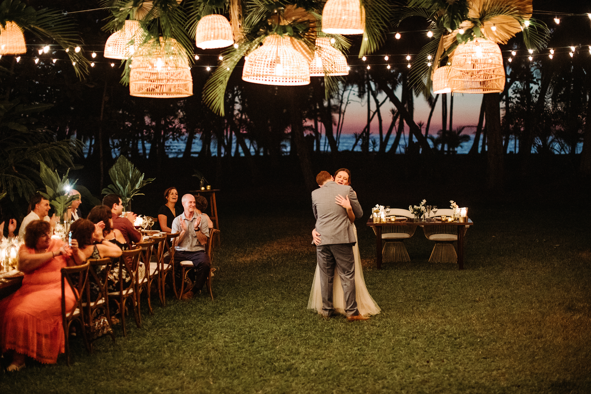
M 340 276 L 345 297 L 347 320 L 368 320 L 357 310 L 355 301 L 355 258 L 353 245 L 355 234 L 349 227 L 347 210 L 336 203 L 337 196 L 348 197 L 355 219 L 363 216 L 357 196 L 350 186 L 335 183 L 326 171 L 316 176 L 320 188 L 312 192 L 312 210 L 316 218 L 316 232 L 313 232 L 316 244 L 316 258 L 320 268 L 320 289 L 322 291 L 322 315 L 329 319 L 333 309 L 333 278 L 335 266 Z

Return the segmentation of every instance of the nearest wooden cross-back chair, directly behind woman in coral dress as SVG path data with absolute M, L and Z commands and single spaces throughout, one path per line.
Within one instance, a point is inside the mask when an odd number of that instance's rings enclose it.
M 61 324 L 64 328 L 66 350 L 66 362 L 70 366 L 70 343 L 68 341 L 70 334 L 70 325 L 74 322 L 80 325 L 80 333 L 84 338 L 86 350 L 89 350 L 88 341 L 86 340 L 86 331 L 84 327 L 84 313 L 82 309 L 82 297 L 85 292 L 86 283 L 88 280 L 88 266 L 86 262 L 83 265 L 73 267 L 64 267 L 61 272 Z M 71 308 L 66 308 L 66 288 L 72 290 L 74 294 L 74 304 Z

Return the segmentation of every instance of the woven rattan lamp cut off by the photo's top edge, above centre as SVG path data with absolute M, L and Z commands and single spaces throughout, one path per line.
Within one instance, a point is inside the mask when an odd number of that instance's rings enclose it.
M 329 34 L 363 34 L 365 9 L 359 0 L 329 0 L 322 10 L 322 31 Z

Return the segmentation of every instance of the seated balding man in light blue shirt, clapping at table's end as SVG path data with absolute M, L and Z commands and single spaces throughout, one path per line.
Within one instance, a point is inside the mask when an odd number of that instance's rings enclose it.
M 181 202 L 184 211 L 174 218 L 171 227 L 173 233 L 180 233 L 174 250 L 174 264 L 179 267 L 176 271 L 181 272 L 179 266 L 181 261 L 191 261 L 195 266 L 195 269 L 189 271 L 194 284 L 193 289 L 183 294 L 183 299 L 193 298 L 194 292 L 201 291 L 209 276 L 211 266 L 209 256 L 205 252 L 209 238 L 209 227 L 206 217 L 202 216 L 202 209 L 207 207 L 207 200 L 203 196 L 197 198 L 199 201 L 196 202 L 193 194 L 183 196 Z M 202 200 L 204 200 L 204 204 Z M 183 279 L 181 278 L 181 280 Z

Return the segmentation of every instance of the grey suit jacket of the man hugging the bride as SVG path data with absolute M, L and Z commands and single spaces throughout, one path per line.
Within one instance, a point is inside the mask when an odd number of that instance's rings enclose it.
M 336 204 L 337 194 L 343 197 L 349 196 L 355 219 L 363 216 L 357 196 L 350 186 L 330 181 L 325 183 L 323 187 L 314 190 L 312 192 L 312 210 L 316 218 L 316 231 L 320 233 L 322 238 L 320 245 L 355 243 L 355 233 L 349 226 L 347 210 Z

